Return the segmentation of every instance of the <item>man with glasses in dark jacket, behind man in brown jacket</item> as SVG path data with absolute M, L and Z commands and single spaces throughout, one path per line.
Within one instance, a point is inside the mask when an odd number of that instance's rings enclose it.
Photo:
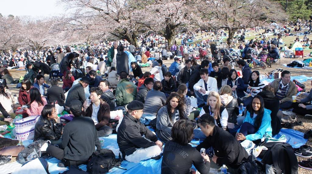
M 101 99 L 105 100 L 105 102 L 110 105 L 110 111 L 115 111 L 115 97 L 110 90 L 110 83 L 107 80 L 102 80 L 100 81 L 99 87 L 103 92 Z

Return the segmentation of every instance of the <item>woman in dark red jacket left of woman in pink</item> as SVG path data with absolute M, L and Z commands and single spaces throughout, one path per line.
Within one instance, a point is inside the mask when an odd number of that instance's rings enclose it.
M 20 89 L 18 93 L 18 103 L 23 106 L 26 104 L 30 105 L 30 93 L 29 90 L 32 89 L 32 84 L 29 79 L 25 78 L 22 80 L 22 88 Z M 22 113 L 23 118 L 28 117 L 28 114 L 26 111 L 23 111 Z

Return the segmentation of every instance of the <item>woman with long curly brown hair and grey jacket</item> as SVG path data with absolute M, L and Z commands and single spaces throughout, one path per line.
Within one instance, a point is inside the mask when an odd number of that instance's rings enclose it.
M 158 110 L 156 121 L 157 137 L 164 142 L 172 140 L 171 129 L 173 124 L 180 119 L 188 119 L 184 112 L 184 101 L 178 93 L 172 92 L 166 104 Z M 197 128 L 197 124 L 194 122 L 193 128 Z

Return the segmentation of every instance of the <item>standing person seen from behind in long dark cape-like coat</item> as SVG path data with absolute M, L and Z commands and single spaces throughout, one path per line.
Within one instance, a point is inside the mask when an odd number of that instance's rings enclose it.
M 116 55 L 116 70 L 117 74 L 124 71 L 129 75 L 129 57 L 128 54 L 124 52 L 124 46 L 119 46 L 119 51 Z

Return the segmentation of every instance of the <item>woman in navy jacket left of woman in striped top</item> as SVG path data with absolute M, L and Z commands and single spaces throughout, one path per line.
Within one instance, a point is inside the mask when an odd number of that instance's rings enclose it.
M 240 77 L 238 77 L 235 69 L 231 69 L 228 75 L 227 85 L 232 88 L 232 96 L 237 98 L 238 104 L 242 103 L 242 97 L 245 97 L 244 93 L 244 81 Z

